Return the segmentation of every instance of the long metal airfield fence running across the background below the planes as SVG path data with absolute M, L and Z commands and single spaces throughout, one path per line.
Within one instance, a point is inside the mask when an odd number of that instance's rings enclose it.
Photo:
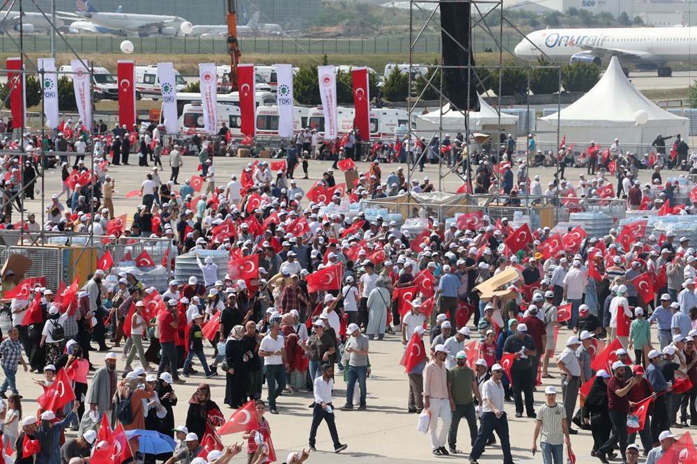
M 122 54 L 123 37 L 104 35 L 68 35 L 66 40 L 77 53 L 116 53 Z M 216 37 L 141 37 L 130 38 L 135 45 L 135 53 L 162 54 L 227 54 L 227 38 Z M 375 38 L 304 38 L 304 37 L 242 37 L 240 46 L 245 54 L 408 54 L 408 37 Z M 520 36 L 504 36 L 503 47 L 514 49 Z M 496 42 L 489 37 L 473 39 L 474 52 L 498 49 Z M 49 52 L 49 36 L 26 34 L 23 47 L 25 52 Z M 0 36 L 2 52 L 16 53 L 17 46 L 6 36 Z M 414 53 L 436 54 L 441 52 L 439 36 L 423 36 L 414 44 Z M 56 52 L 71 53 L 63 40 L 56 42 Z M 376 70 L 380 72 L 381 70 Z

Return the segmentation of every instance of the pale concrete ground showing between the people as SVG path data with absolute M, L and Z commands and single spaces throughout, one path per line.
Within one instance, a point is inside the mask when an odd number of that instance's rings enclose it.
M 239 174 L 242 167 L 250 160 L 239 158 L 216 158 L 215 166 L 217 169 L 217 180 L 219 183 L 227 183 L 231 173 Z M 187 176 L 194 174 L 194 169 L 197 167 L 198 161 L 192 157 L 185 158 L 185 168 L 181 173 L 180 179 L 183 180 Z M 165 163 L 166 164 L 166 163 Z M 309 172 L 310 180 L 300 180 L 302 175 L 298 177 L 300 187 L 306 191 L 321 176 L 323 169 L 330 166 L 329 162 L 312 162 Z M 386 176 L 392 169 L 395 169 L 395 164 L 383 165 L 383 174 Z M 358 169 L 367 169 L 367 163 L 358 163 Z M 116 190 L 118 194 L 115 196 L 114 204 L 116 214 L 128 213 L 132 214 L 135 206 L 139 203 L 139 199 L 125 199 L 124 195 L 132 190 L 140 188 L 142 180 L 148 169 L 144 167 L 114 167 L 109 170 L 112 177 L 116 178 Z M 567 169 L 567 178 L 572 179 L 574 184 L 578 183 L 578 174 L 584 172 L 585 169 Z M 539 173 L 542 176 L 543 185 L 549 182 L 553 177 L 553 169 L 535 169 L 530 173 L 530 178 Z M 337 181 L 340 172 L 337 171 Z M 438 166 L 428 166 L 424 173 L 418 173 L 419 178 L 423 178 L 424 174 L 430 176 L 431 180 L 437 181 Z M 672 176 L 673 173 L 668 174 Z M 166 180 L 169 177 L 169 169 L 165 169 L 162 173 L 162 179 Z M 642 178 L 648 178 L 648 171 L 643 171 Z M 459 178 L 450 174 L 445 177 L 445 190 L 454 192 L 461 185 Z M 45 192 L 47 199 L 53 193 L 59 192 L 60 172 L 51 170 L 46 176 Z M 63 198 L 64 200 L 64 198 Z M 41 207 L 40 200 L 27 201 L 28 209 L 33 212 L 39 212 Z M 307 204 L 307 202 L 304 202 Z M 14 219 L 18 220 L 18 219 Z M 565 340 L 569 337 L 570 332 L 562 329 L 559 334 L 557 343 L 558 352 L 563 348 Z M 206 350 L 206 355 L 210 356 L 211 350 Z M 96 366 L 102 365 L 102 359 L 105 353 L 92 353 L 92 359 Z M 402 355 L 402 345 L 397 336 L 388 335 L 385 341 L 374 341 L 370 346 L 370 361 L 372 364 L 372 378 L 368 381 L 367 390 L 367 406 L 368 410 L 364 412 L 353 411 L 343 412 L 338 410 L 338 407 L 343 404 L 342 396 L 344 395 L 345 384 L 339 378 L 335 389 L 335 405 L 337 406 L 337 428 L 342 442 L 348 444 L 348 449 L 342 454 L 334 455 L 327 454 L 328 450 L 332 450 L 332 442 L 329 437 L 328 430 L 325 425 L 320 427 L 317 448 L 319 451 L 312 454 L 310 462 L 321 462 L 320 460 L 331 459 L 332 462 L 339 464 L 355 462 L 355 458 L 368 458 L 373 463 L 416 463 L 420 461 L 455 461 L 466 462 L 466 454 L 450 457 L 436 457 L 431 454 L 431 445 L 427 435 L 416 430 L 418 416 L 408 414 L 407 410 L 407 394 L 408 381 L 404 368 L 399 365 L 399 359 Z M 118 369 L 122 369 L 124 362 L 119 360 Z M 20 369 L 21 370 L 21 369 Z M 556 379 L 544 379 L 544 385 L 538 387 L 538 393 L 535 394 L 536 405 L 544 401 L 542 391 L 546 385 L 556 385 L 560 389 L 559 372 L 556 366 L 551 368 L 551 373 Z M 17 375 L 18 387 L 24 396 L 24 413 L 33 414 L 36 404 L 34 400 L 41 393 L 40 387 L 35 385 L 31 379 L 39 378 L 38 375 L 20 372 Z M 340 377 L 340 376 L 339 376 Z M 177 385 L 175 390 L 180 399 L 175 408 L 176 424 L 185 422 L 187 412 L 187 399 L 194 392 L 194 388 L 199 382 L 204 382 L 202 374 L 192 376 L 187 379 L 186 385 Z M 224 399 L 224 377 L 212 378 L 208 381 L 212 386 L 213 399 L 221 406 L 224 414 L 229 417 L 232 410 L 223 404 Z M 263 391 L 263 398 L 266 399 L 266 388 Z M 558 400 L 561 400 L 559 395 Z M 312 402 L 312 394 L 308 392 L 299 392 L 296 394 L 284 394 L 277 401 L 280 411 L 279 415 L 267 415 L 267 418 L 272 427 L 272 437 L 279 463 L 283 462 L 286 453 L 289 450 L 300 450 L 302 447 L 307 447 L 307 437 L 309 427 L 312 421 L 312 411 L 307 408 L 307 405 Z M 512 403 L 506 403 L 505 408 L 509 414 L 510 433 L 512 441 L 512 452 L 517 463 L 542 463 L 542 457 L 537 454 L 535 457 L 530 453 L 530 444 L 532 442 L 533 427 L 535 422 L 533 419 L 515 419 L 514 408 Z M 680 431 L 675 431 L 680 432 Z M 69 432 L 68 436 L 73 432 Z M 223 442 L 231 444 L 233 442 L 242 442 L 241 434 L 225 435 Z M 595 463 L 596 458 L 590 456 L 592 447 L 592 437 L 590 431 L 580 431 L 578 435 L 572 438 L 574 451 L 576 453 L 577 462 L 579 463 Z M 464 451 L 469 451 L 468 430 L 466 424 L 461 423 L 459 429 L 459 448 Z M 480 458 L 481 463 L 501 463 L 503 460 L 500 448 L 490 447 L 488 451 Z M 243 462 L 243 458 L 238 457 L 234 462 Z M 326 462 L 326 461 L 324 461 Z

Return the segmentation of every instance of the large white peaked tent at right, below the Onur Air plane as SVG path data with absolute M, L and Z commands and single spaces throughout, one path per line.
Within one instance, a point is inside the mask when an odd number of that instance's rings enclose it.
M 643 125 L 636 122 L 639 110 L 648 113 L 648 121 Z M 657 134 L 689 133 L 689 119 L 664 111 L 636 90 L 615 57 L 588 93 L 559 113 L 539 118 L 537 131 L 555 132 L 557 125 L 567 144 L 583 145 L 595 140 L 604 147 L 610 146 L 615 137 L 623 146 L 650 145 Z M 537 141 L 556 144 L 557 135 L 540 133 Z

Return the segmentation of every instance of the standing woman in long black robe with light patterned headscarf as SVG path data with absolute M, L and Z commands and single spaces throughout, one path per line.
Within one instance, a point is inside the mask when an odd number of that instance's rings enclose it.
M 231 408 L 240 408 L 247 402 L 247 385 L 249 384 L 249 357 L 245 352 L 245 326 L 232 327 L 225 342 L 225 404 Z

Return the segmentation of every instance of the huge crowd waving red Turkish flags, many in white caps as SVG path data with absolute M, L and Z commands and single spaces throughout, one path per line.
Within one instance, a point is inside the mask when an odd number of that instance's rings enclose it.
M 537 451 L 539 442 L 545 464 L 565 461 L 564 446 L 572 451 L 572 435 L 587 430 L 593 445 L 583 452 L 590 451 L 602 463 L 618 455 L 636 463 L 643 454 L 654 464 L 676 440 L 671 429 L 697 425 L 697 259 L 689 238 L 641 231 L 627 237 L 615 229 L 599 238 L 576 230 L 556 235 L 544 227 L 530 231 L 519 244 L 519 229 L 509 219 L 495 221 L 483 213 L 473 213 L 473 222 L 450 224 L 429 217 L 427 229 L 410 235 L 381 216 L 373 220 L 363 212 L 355 217 L 324 212 L 326 203 L 339 206 L 344 196 L 359 202 L 436 190 L 428 177 L 410 183 L 400 167 L 381 169 L 380 157 L 360 172 L 353 163 L 339 166 L 358 160 L 355 150 L 339 147 L 335 168 L 305 192 L 298 187 L 294 168 L 302 163 L 307 178 L 304 154 L 313 150 L 312 134 L 291 143 L 278 169 L 272 169 L 272 160 L 257 160 L 241 173 L 217 169 L 217 149 L 203 137 L 195 161 L 200 176 L 180 185 L 179 170 L 187 160 L 184 148 L 165 141 L 159 131 L 155 125 L 142 136 L 139 164 L 149 161 L 153 167 L 137 194 L 141 204 L 125 228 L 113 227 L 112 199 L 118 173 L 114 166 L 129 164 L 123 153 L 128 132 L 114 133 L 109 144 L 98 136 L 89 142 L 89 151 L 77 151 L 93 153 L 91 166 L 85 166 L 81 155 L 72 164 L 74 172 L 70 160 L 59 161 L 63 190 L 46 208 L 47 230 L 92 232 L 107 235 L 113 243 L 168 238 L 172 260 L 178 254 L 195 256 L 203 279 L 172 280 L 166 290 L 153 289 L 134 273 L 107 266 L 95 269 L 75 289 L 74 300 L 66 301 L 65 293 L 54 294 L 40 283 L 31 292 L 14 295 L 18 282 L 13 270 L 6 270 L 0 302 L 10 314 L 11 328 L 0 344 L 5 377 L 0 397 L 8 389 L 12 395 L 3 403 L 0 418 L 6 449 L 17 452 L 17 463 L 86 462 L 102 442 L 110 444 L 100 435 L 103 424 L 109 430 L 123 429 L 138 462 L 228 462 L 243 449 L 218 446 L 211 439 L 226 423 L 224 407 L 213 397 L 236 410 L 253 405 L 259 426 L 245 431 L 243 439 L 248 462 L 263 463 L 271 451 L 265 444 L 270 435 L 266 408 L 271 415 L 283 414 L 284 394 L 300 392 L 312 392 L 309 451 L 316 450 L 321 422 L 327 423 L 333 451 L 344 451 L 348 445 L 339 440 L 337 412 L 372 408 L 367 403 L 371 349 L 374 343 L 394 340 L 401 341 L 406 353 L 404 409 L 427 421 L 436 456 L 466 454 L 476 464 L 485 449 L 500 448 L 503 463 L 513 463 L 507 408 L 516 418 L 531 419 L 531 450 Z M 75 132 L 73 148 L 81 137 L 79 129 Z M 355 134 L 348 136 L 349 145 L 355 144 Z M 589 167 L 588 179 L 580 174 L 577 186 L 564 178 L 560 160 L 568 150 L 562 146 L 556 178 L 543 193 L 539 176 L 528 179 L 526 158 L 516 158 L 515 141 L 509 146 L 506 140 L 496 155 L 477 153 L 463 160 L 461 140 L 446 139 L 447 144 L 435 145 L 437 151 L 444 155 L 450 152 L 443 146 L 455 147 L 452 154 L 460 157 L 450 158 L 450 164 L 470 172 L 470 191 L 508 196 L 512 206 L 521 204 L 523 194 L 548 196 L 558 203 L 572 197 L 578 200 L 576 206 L 606 199 L 625 199 L 628 210 L 677 206 L 674 193 L 679 187 L 661 178 L 666 157 L 643 169 L 636 156 L 622 152 L 619 140 L 606 159 Z M 29 141 L 30 146 L 36 145 Z M 421 153 L 429 146 L 422 145 Z M 536 153 L 534 143 L 532 147 Z M 399 146 L 404 149 L 413 152 Z M 602 157 L 593 150 L 588 153 Z M 6 157 L 3 166 L 15 176 L 18 162 L 18 157 Z M 334 169 L 354 169 L 358 182 L 346 188 L 335 179 Z M 160 177 L 165 172 L 169 180 Z M 649 172 L 650 180 L 642 187 L 641 178 Z M 231 180 L 222 182 L 223 174 Z M 611 188 L 612 194 L 606 195 L 615 180 L 616 192 Z M 10 185 L 15 183 L 10 180 Z M 655 195 L 652 187 L 658 185 L 664 188 Z M 314 196 L 316 190 L 325 193 L 322 201 Z M 512 201 L 515 197 L 517 202 Z M 6 201 L 6 217 L 12 209 Z M 8 228 L 11 223 L 3 220 Z M 40 227 L 33 215 L 22 226 L 32 232 Z M 229 252 L 227 275 L 221 277 L 225 272 L 212 258 L 201 260 L 203 250 Z M 240 268 L 233 264 L 240 260 L 255 263 L 253 274 L 235 272 Z M 112 272 L 114 286 L 105 280 Z M 341 283 L 324 287 L 313 278 L 318 274 Z M 496 295 L 482 297 L 475 290 L 499 274 L 512 277 L 500 282 Z M 645 276 L 651 281 L 650 295 L 638 283 Z M 23 323 L 29 314 L 31 323 Z M 565 348 L 555 353 L 558 336 L 565 339 Z M 104 365 L 91 362 L 91 343 L 107 353 Z M 207 359 L 206 350 L 213 357 Z M 608 359 L 598 366 L 601 351 Z M 124 364 L 117 368 L 119 361 Z M 37 382 L 45 389 L 68 375 L 74 400 L 54 410 L 41 405 L 36 414 L 23 416 L 16 382 L 20 364 L 43 374 Z M 560 378 L 555 380 L 557 372 Z M 335 408 L 337 373 L 346 388 Z M 224 375 L 224 396 L 212 396 L 210 385 L 200 383 L 189 400 L 185 425 L 175 428 L 182 419 L 174 417 L 176 389 L 199 374 Z M 543 379 L 558 387 L 546 386 L 535 408 Z M 680 392 L 673 389 L 678 384 Z M 635 406 L 646 399 L 651 403 L 648 415 L 634 417 Z M 637 425 L 631 433 L 628 417 Z M 458 439 L 462 419 L 467 422 L 468 447 Z M 63 432 L 70 427 L 77 438 L 66 441 Z M 174 433 L 176 449 L 140 451 L 140 432 L 132 433 L 134 438 L 128 435 L 131 431 Z M 31 451 L 27 440 L 38 440 L 40 450 L 24 457 Z M 300 463 L 308 456 L 307 451 L 291 454 L 286 462 Z

